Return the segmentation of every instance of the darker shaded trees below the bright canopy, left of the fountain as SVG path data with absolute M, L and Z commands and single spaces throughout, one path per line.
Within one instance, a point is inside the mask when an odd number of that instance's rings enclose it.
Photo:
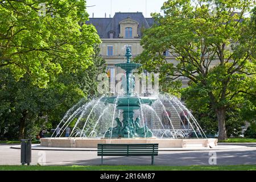
M 65 112 L 81 98 L 86 101 L 97 96 L 97 75 L 104 72 L 104 60 L 98 57 L 98 47 L 95 47 L 95 52 L 93 65 L 81 67 L 75 73 L 63 67 L 55 79 L 49 80 L 47 88 L 33 85 L 28 74 L 15 81 L 9 68 L 1 68 L 2 137 L 4 131 L 9 138 L 35 137 L 40 129 L 56 127 Z

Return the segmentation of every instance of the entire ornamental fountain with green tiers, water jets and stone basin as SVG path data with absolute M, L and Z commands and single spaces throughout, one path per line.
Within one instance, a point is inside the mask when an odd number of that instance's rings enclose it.
M 82 99 L 61 119 L 58 125 L 60 137 L 56 137 L 55 129 L 50 138 L 40 139 L 41 146 L 97 148 L 98 143 L 159 143 L 159 148 L 217 146 L 217 139 L 205 136 L 191 112 L 176 97 L 163 94 L 140 97 L 135 94 L 132 73 L 142 64 L 131 63 L 129 47 L 126 48 L 125 57 L 126 63 L 115 64 L 125 70 L 125 92 L 112 97 L 102 96 L 89 102 Z M 172 108 L 172 117 L 163 103 Z M 159 117 L 159 110 L 164 113 L 168 126 Z M 151 118 L 154 115 L 156 122 L 148 122 L 148 115 Z M 174 125 L 175 117 L 182 129 Z M 62 137 L 67 127 L 72 128 L 71 136 Z M 189 132 L 195 133 L 196 138 L 189 138 Z

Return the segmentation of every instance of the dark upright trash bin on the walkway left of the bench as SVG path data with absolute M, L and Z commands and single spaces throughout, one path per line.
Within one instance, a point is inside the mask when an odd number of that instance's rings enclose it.
M 22 165 L 31 163 L 31 140 L 30 139 L 22 139 L 21 140 L 21 148 L 20 148 L 20 162 Z

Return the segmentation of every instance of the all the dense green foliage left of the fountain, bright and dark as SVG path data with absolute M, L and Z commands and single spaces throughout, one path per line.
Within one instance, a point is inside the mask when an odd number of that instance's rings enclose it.
M 0 1 L 0 137 L 35 137 L 97 95 L 104 60 L 96 29 L 81 23 L 85 9 L 77 0 Z

